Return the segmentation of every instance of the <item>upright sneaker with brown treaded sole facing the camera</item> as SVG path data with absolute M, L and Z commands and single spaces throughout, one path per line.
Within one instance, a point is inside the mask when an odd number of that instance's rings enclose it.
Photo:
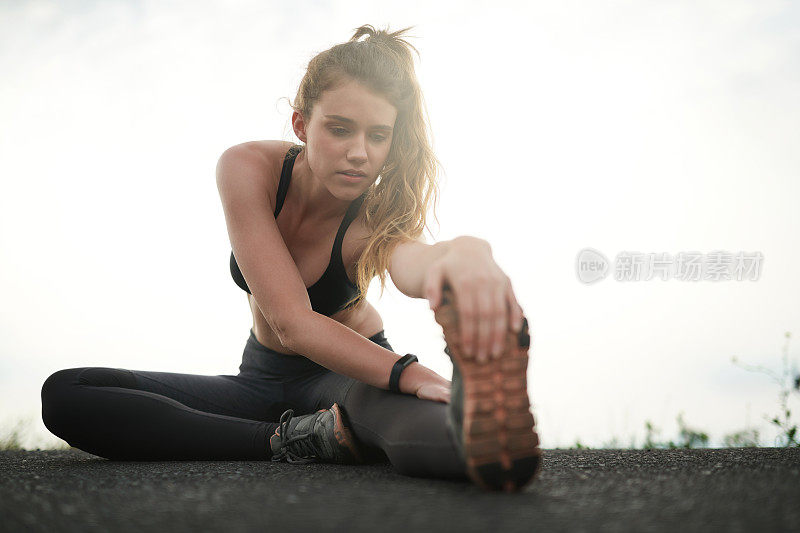
M 481 363 L 461 350 L 453 293 L 445 288 L 436 310 L 453 361 L 448 424 L 467 475 L 486 489 L 520 490 L 541 469 L 542 451 L 528 400 L 528 321 L 509 330 L 500 357 Z

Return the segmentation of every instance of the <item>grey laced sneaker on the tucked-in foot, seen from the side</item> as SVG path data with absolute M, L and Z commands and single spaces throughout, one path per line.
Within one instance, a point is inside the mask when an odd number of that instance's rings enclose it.
M 294 416 L 289 409 L 269 438 L 272 460 L 292 464 L 357 463 L 361 456 L 338 404 L 310 415 Z

